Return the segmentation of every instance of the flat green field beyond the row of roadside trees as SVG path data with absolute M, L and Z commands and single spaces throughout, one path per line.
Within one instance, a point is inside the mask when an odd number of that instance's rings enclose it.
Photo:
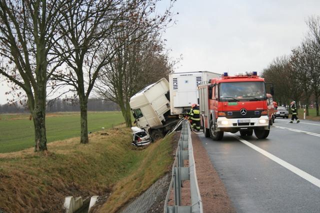
M 0 114 L 0 153 L 34 146 L 34 128 L 28 114 Z M 88 132 L 123 123 L 120 112 L 88 112 Z M 80 113 L 49 113 L 45 117 L 47 142 L 78 137 Z

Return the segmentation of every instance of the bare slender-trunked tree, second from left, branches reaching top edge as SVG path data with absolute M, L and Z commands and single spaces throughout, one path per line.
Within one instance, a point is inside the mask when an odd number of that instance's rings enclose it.
M 63 53 L 61 58 L 66 68 L 54 78 L 72 86 L 79 98 L 80 143 L 88 143 L 87 100 L 96 78 L 101 68 L 110 62 L 115 50 L 127 41 L 115 35 L 127 28 L 131 33 L 140 28 L 152 31 L 165 23 L 169 10 L 162 16 L 153 15 L 149 19 L 157 1 L 77 0 L 76 9 L 66 13 L 65 20 L 59 24 L 59 33 L 68 32 L 63 42 L 57 42 L 56 46 L 57 54 Z

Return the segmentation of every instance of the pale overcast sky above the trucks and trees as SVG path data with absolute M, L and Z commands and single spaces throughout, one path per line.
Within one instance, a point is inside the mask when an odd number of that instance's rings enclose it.
M 320 0 L 177 0 L 173 10 L 177 23 L 163 38 L 172 58 L 182 54 L 175 71 L 261 73 L 301 42 L 307 17 L 320 15 Z

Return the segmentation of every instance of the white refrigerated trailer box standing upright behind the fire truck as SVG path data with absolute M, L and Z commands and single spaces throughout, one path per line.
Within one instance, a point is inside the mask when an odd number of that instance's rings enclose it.
M 191 104 L 199 104 L 197 86 L 208 83 L 211 78 L 217 78 L 220 75 L 209 71 L 170 73 L 171 115 L 187 113 Z

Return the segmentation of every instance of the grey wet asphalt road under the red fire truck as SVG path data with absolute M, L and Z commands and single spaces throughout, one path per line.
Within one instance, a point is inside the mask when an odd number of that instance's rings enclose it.
M 275 119 L 267 139 L 199 138 L 237 213 L 320 213 L 320 122 Z

